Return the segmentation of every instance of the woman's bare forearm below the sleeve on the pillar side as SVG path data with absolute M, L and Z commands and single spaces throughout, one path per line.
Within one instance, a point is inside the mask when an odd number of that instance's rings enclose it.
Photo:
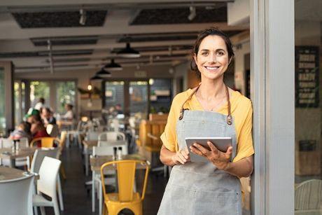
M 253 172 L 253 156 L 230 162 L 225 171 L 239 178 L 250 176 Z

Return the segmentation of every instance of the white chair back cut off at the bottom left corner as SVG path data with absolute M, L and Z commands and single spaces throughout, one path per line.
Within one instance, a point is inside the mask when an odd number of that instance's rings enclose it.
M 19 179 L 0 181 L 0 214 L 32 215 L 34 174 Z

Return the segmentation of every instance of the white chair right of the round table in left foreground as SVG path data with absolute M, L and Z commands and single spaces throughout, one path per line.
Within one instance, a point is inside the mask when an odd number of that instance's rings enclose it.
M 41 207 L 41 214 L 44 213 L 43 207 L 53 207 L 55 215 L 59 215 L 58 200 L 56 194 L 57 176 L 61 161 L 55 158 L 45 157 L 39 169 L 40 179 L 37 181 L 37 195 L 33 196 L 32 204 L 34 207 Z M 46 200 L 42 194 L 51 197 Z

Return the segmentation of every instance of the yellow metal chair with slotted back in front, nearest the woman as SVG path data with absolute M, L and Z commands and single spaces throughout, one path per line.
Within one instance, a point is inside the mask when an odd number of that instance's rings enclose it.
M 134 177 L 137 165 L 146 167 L 144 176 L 144 185 L 141 195 L 134 193 Z M 106 193 L 104 168 L 116 165 L 118 176 L 118 193 Z M 106 162 L 101 167 L 102 186 L 104 195 L 104 215 L 117 215 L 121 210 L 127 208 L 134 212 L 135 215 L 142 215 L 142 202 L 146 193 L 146 182 L 148 180 L 148 164 L 143 160 L 117 160 Z M 106 211 L 107 209 L 107 211 Z

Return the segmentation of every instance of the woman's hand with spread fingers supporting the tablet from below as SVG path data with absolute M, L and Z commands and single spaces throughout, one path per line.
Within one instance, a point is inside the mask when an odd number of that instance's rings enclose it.
M 210 151 L 207 148 L 204 148 L 204 146 L 195 143 L 193 146 L 190 146 L 191 152 L 207 158 L 218 169 L 228 169 L 230 166 L 230 156 L 232 155 L 232 146 L 228 147 L 228 150 L 224 153 L 219 151 L 218 148 L 211 143 L 211 141 L 208 141 L 207 144 L 210 148 Z

